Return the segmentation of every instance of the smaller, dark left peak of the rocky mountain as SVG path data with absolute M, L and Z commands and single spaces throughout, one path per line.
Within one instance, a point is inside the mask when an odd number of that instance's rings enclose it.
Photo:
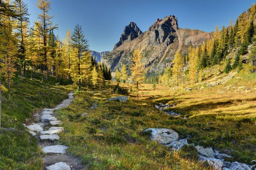
M 128 26 L 125 26 L 125 29 L 120 37 L 120 40 L 116 43 L 114 49 L 122 45 L 125 40 L 134 40 L 135 38 L 139 37 L 139 35 L 142 33 L 143 32 L 140 31 L 140 28 L 136 25 L 136 23 L 131 22 Z

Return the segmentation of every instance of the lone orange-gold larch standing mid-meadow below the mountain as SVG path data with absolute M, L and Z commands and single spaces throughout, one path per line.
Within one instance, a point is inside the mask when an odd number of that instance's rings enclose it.
M 140 86 L 143 83 L 143 80 L 145 79 L 145 73 L 147 69 L 144 67 L 144 63 L 141 61 L 142 57 L 140 55 L 140 52 L 138 49 L 134 50 L 133 53 L 133 59 L 131 64 L 131 79 L 134 82 L 134 87 L 136 90 L 136 98 L 139 99 L 139 91 Z

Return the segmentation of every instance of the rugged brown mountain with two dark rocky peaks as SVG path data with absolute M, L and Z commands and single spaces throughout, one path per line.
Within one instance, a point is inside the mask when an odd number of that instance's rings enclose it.
M 177 49 L 181 54 L 188 51 L 190 45 L 196 46 L 211 39 L 213 33 L 178 27 L 177 17 L 169 15 L 157 21 L 142 33 L 137 25 L 131 22 L 116 43 L 113 51 L 102 57 L 112 71 L 120 69 L 122 64 L 131 65 L 132 53 L 139 48 L 149 74 L 159 74 L 172 60 Z

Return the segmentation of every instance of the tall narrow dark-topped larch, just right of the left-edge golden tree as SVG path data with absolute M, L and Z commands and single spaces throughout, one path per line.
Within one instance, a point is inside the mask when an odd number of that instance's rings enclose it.
M 18 57 L 20 64 L 20 76 L 26 76 L 26 62 L 27 62 L 27 46 L 28 46 L 28 31 L 29 31 L 29 10 L 27 4 L 23 0 L 14 1 L 15 10 L 17 11 L 17 44 L 18 44 Z

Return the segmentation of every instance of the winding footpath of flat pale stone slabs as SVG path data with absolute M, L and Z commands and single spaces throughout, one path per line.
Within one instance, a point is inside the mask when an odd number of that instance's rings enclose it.
M 34 115 L 35 122 L 25 125 L 29 132 L 38 139 L 38 145 L 44 152 L 44 165 L 46 170 L 84 170 L 81 161 L 66 153 L 67 146 L 59 142 L 59 133 L 64 132 L 62 122 L 58 121 L 53 111 L 70 105 L 73 101 L 73 92 L 55 108 L 45 108 L 41 113 Z

